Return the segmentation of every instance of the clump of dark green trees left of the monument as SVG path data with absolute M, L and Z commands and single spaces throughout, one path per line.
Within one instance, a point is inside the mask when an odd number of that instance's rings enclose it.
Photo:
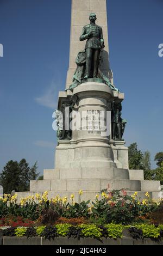
M 37 171 L 37 163 L 33 167 L 29 167 L 26 159 L 17 161 L 9 161 L 0 174 L 0 182 L 3 186 L 4 193 L 11 193 L 12 190 L 29 191 L 30 180 L 36 180 L 39 174 Z

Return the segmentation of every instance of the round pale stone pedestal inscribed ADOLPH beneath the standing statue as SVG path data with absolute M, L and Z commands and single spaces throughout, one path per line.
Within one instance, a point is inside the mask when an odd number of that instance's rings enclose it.
M 109 145 L 111 115 L 108 115 L 109 133 L 103 133 L 103 127 L 106 127 L 106 111 L 111 111 L 112 90 L 103 83 L 87 82 L 75 88 L 73 95 L 78 97 L 78 113 L 82 121 L 77 131 L 72 167 L 116 167 Z

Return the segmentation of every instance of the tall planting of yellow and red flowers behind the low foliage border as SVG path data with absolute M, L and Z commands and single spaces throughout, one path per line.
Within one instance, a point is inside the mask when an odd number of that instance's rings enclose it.
M 163 202 L 149 198 L 140 201 L 137 192 L 127 196 L 125 190 L 103 190 L 96 195 L 94 202 L 81 201 L 83 191 L 79 191 L 79 202 L 74 202 L 74 195 L 68 198 L 48 199 L 48 193 L 22 198 L 4 194 L 0 198 L 0 227 L 33 227 L 42 225 L 66 224 L 89 225 L 97 227 L 104 224 L 163 224 Z M 84 226 L 83 226 L 84 227 Z M 97 232 L 98 233 L 98 232 Z

